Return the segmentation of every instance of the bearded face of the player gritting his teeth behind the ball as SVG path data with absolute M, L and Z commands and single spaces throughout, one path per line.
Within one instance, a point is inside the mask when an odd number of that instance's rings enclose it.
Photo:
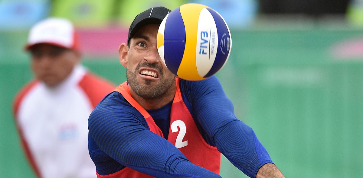
M 156 46 L 159 25 L 143 26 L 130 39 L 127 81 L 131 89 L 147 99 L 162 98 L 171 91 L 175 75 L 162 62 Z

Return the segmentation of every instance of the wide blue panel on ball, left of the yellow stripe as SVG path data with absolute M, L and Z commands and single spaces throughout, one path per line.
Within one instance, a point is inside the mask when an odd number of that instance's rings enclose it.
M 168 69 L 178 74 L 185 49 L 185 27 L 180 10 L 173 10 L 166 19 L 164 31 L 164 59 Z

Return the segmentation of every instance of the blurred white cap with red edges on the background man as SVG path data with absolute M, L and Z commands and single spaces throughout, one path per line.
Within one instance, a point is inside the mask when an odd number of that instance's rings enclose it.
M 46 18 L 30 29 L 25 50 L 29 50 L 34 45 L 41 43 L 80 52 L 76 30 L 72 22 L 64 18 Z

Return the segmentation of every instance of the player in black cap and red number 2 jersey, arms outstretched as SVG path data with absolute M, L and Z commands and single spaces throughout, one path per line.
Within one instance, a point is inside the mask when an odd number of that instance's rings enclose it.
M 220 177 L 220 153 L 250 177 L 284 177 L 253 130 L 236 118 L 218 79 L 178 79 L 156 46 L 170 12 L 150 8 L 119 47 L 127 82 L 91 113 L 89 151 L 99 178 Z

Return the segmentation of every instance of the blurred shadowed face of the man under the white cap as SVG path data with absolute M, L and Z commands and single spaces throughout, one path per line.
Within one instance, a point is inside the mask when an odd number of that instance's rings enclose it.
M 76 52 L 54 45 L 38 44 L 30 51 L 34 75 L 51 87 L 65 80 L 79 62 Z

